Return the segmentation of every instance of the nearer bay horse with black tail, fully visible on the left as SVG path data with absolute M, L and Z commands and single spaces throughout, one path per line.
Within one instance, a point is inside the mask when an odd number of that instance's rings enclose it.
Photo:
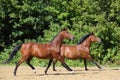
M 35 68 L 30 63 L 33 57 L 37 57 L 39 59 L 49 59 L 49 63 L 45 70 L 45 74 L 47 74 L 47 71 L 54 58 L 60 61 L 68 71 L 72 71 L 72 69 L 69 68 L 65 63 L 64 58 L 60 55 L 60 48 L 64 39 L 73 40 L 74 36 L 71 33 L 69 33 L 67 29 L 62 29 L 53 38 L 53 40 L 48 43 L 40 44 L 34 42 L 26 42 L 21 45 L 17 45 L 14 47 L 12 53 L 10 54 L 9 58 L 5 61 L 5 63 L 10 62 L 13 56 L 15 56 L 17 51 L 21 48 L 20 49 L 21 59 L 16 64 L 16 67 L 14 69 L 14 76 L 16 76 L 17 69 L 20 66 L 20 64 L 23 63 L 24 61 L 26 61 L 28 66 L 30 66 L 32 70 L 36 73 Z

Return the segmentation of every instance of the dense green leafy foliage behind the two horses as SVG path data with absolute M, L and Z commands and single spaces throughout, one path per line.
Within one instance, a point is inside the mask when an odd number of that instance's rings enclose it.
M 101 64 L 120 64 L 120 0 L 1 0 L 0 62 L 12 47 L 24 42 L 46 43 L 68 28 L 79 39 L 90 32 L 101 38 L 91 46 L 91 55 Z M 18 53 L 19 54 L 19 53 Z M 14 57 L 17 62 L 20 54 Z M 68 61 L 72 63 L 74 61 Z M 34 59 L 33 64 L 41 63 Z M 47 61 L 42 63 L 46 66 Z

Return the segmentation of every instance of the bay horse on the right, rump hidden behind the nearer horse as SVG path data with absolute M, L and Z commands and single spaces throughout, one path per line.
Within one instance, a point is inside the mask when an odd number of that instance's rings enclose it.
M 93 62 L 99 69 L 102 69 L 91 57 L 90 55 L 90 46 L 92 42 L 101 42 L 100 38 L 96 37 L 94 33 L 87 34 L 83 36 L 77 45 L 67 45 L 62 44 L 61 47 L 61 56 L 71 60 L 75 59 L 84 59 L 85 70 L 87 69 L 86 60 Z M 56 71 L 55 64 L 57 60 L 53 60 L 53 71 Z

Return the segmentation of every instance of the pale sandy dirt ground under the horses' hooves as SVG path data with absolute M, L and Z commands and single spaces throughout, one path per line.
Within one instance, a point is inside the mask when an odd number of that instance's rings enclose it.
M 0 66 L 0 80 L 120 80 L 120 68 L 88 67 L 85 71 L 83 67 L 72 67 L 74 72 L 69 72 L 63 67 L 56 67 L 57 71 L 48 70 L 48 75 L 44 75 L 45 67 L 35 66 L 36 74 L 29 66 L 20 66 L 17 76 L 13 75 L 15 66 Z

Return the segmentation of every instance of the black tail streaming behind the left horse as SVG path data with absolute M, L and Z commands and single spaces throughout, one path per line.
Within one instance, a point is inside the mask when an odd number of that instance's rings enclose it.
M 3 62 L 3 64 L 9 63 L 11 61 L 11 59 L 16 55 L 17 51 L 21 48 L 21 46 L 22 46 L 22 44 L 16 45 L 13 48 L 13 51 L 11 52 L 9 58 L 5 62 Z

